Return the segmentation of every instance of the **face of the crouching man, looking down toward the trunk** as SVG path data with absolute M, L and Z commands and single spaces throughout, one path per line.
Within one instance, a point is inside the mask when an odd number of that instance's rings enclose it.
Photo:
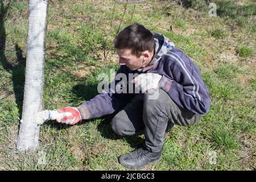
M 117 49 L 117 54 L 119 56 L 119 64 L 126 65 L 132 71 L 142 68 L 143 57 L 137 57 L 131 54 L 130 49 Z

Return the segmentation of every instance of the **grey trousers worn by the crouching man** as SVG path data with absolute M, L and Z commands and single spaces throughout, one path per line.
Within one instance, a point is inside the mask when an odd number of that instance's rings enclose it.
M 152 92 L 158 97 L 152 99 Z M 133 100 L 112 119 L 113 131 L 121 136 L 144 134 L 144 147 L 158 152 L 163 147 L 168 125 L 188 126 L 201 115 L 182 109 L 162 89 L 144 94 L 144 100 Z

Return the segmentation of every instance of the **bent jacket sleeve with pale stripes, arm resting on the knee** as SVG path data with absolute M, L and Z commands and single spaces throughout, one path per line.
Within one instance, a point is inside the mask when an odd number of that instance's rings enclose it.
M 164 61 L 164 67 L 167 67 L 167 75 L 162 77 L 159 87 L 181 108 L 201 115 L 207 113 L 210 94 L 199 68 L 189 57 L 170 54 Z

